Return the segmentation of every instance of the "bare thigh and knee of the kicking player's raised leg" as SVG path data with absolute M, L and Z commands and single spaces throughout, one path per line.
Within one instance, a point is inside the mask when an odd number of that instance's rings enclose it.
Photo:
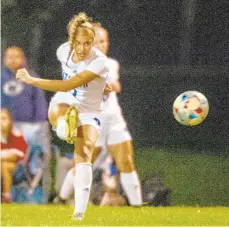
M 49 109 L 48 111 L 49 122 L 54 128 L 57 127 L 58 118 L 63 117 L 67 112 L 68 108 L 69 108 L 68 104 L 59 103 Z

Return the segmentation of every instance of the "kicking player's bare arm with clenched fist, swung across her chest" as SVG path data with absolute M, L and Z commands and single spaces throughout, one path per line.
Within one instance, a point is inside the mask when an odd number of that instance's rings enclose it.
M 29 75 L 26 69 L 19 69 L 16 74 L 16 78 L 22 80 L 23 82 L 33 85 L 35 87 L 41 88 L 47 91 L 70 91 L 74 88 L 78 88 L 99 76 L 91 71 L 85 70 L 77 75 L 71 77 L 68 80 L 48 80 L 35 78 Z

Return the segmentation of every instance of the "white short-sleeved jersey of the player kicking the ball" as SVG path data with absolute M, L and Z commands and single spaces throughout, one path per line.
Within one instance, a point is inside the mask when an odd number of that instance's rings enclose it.
M 69 92 L 76 99 L 79 112 L 100 113 L 103 105 L 103 90 L 108 74 L 108 59 L 101 51 L 93 47 L 86 60 L 74 63 L 72 61 L 74 51 L 68 58 L 69 50 L 69 43 L 64 43 L 57 49 L 57 58 L 61 62 L 63 80 L 67 80 L 85 70 L 98 75 L 99 78 Z

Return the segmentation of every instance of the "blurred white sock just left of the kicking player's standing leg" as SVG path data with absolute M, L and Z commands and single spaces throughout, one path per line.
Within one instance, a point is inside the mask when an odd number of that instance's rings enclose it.
M 73 169 L 70 169 L 64 178 L 64 183 L 60 189 L 60 198 L 67 200 L 74 192 L 74 174 Z

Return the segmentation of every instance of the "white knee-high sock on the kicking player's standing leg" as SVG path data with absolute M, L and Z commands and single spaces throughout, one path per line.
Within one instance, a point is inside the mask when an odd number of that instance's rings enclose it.
M 83 214 L 87 208 L 91 183 L 92 183 L 92 166 L 90 163 L 80 163 L 75 166 L 75 210 L 74 214 Z

